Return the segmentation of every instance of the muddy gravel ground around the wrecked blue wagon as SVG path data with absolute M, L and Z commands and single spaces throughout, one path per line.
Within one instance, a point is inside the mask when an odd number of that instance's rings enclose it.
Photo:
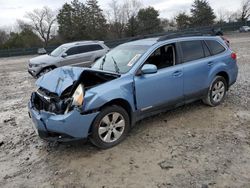
M 197 101 L 145 119 L 109 150 L 38 138 L 30 57 L 0 59 L 0 187 L 250 187 L 250 35 L 229 39 L 239 77 L 221 106 Z

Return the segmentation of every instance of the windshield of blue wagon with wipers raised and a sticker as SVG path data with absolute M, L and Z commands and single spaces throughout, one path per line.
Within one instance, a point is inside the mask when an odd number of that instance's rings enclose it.
M 118 46 L 102 58 L 98 59 L 92 68 L 117 73 L 126 73 L 149 47 L 150 46 L 145 45 Z

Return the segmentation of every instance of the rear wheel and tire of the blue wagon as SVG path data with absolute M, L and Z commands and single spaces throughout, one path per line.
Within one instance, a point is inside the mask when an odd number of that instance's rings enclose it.
M 203 102 L 209 106 L 218 106 L 224 101 L 226 93 L 227 82 L 225 78 L 222 76 L 216 76 L 212 81 L 207 96 L 203 99 Z

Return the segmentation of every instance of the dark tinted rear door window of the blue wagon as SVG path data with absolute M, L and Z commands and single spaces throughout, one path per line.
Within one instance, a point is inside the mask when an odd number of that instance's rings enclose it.
M 184 62 L 204 58 L 202 41 L 194 40 L 181 42 L 181 49 Z

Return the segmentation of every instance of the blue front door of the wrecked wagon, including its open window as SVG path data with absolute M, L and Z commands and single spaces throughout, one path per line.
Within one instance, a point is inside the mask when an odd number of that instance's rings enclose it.
M 170 49 L 170 48 L 171 49 Z M 176 61 L 175 45 L 158 48 L 145 61 L 157 66 L 154 74 L 135 76 L 137 109 L 141 112 L 183 100 L 183 67 Z

